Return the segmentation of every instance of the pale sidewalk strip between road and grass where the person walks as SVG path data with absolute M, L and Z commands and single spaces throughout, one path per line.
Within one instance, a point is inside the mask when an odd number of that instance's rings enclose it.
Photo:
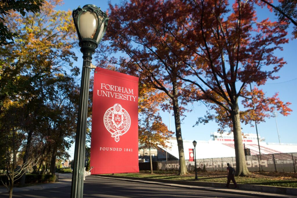
M 142 183 L 155 183 L 164 186 L 176 186 L 187 189 L 197 189 L 197 190 L 205 190 L 205 191 L 217 191 L 217 192 L 225 192 L 232 194 L 242 194 L 249 195 L 255 197 L 269 197 L 269 198 L 280 198 L 280 197 L 288 197 L 288 198 L 297 198 L 297 189 L 295 188 L 282 188 L 282 187 L 274 187 L 274 186 L 260 186 L 260 185 L 247 185 L 247 184 L 237 184 L 238 189 L 232 189 L 233 185 L 230 183 L 229 189 L 225 188 L 225 183 L 212 183 L 212 182 L 197 182 L 197 181 L 181 181 L 181 180 L 161 180 L 161 179 L 151 179 L 151 178 L 133 178 L 133 177 L 125 177 L 125 176 L 115 176 L 115 175 L 92 175 L 91 177 L 108 177 L 119 180 L 126 181 L 134 181 L 134 182 L 142 182 Z M 199 186 L 197 186 L 199 184 Z M 201 185 L 203 184 L 203 185 Z M 207 185 L 207 186 L 206 186 Z M 253 190 L 251 190 L 252 188 Z M 263 191 L 263 189 L 269 191 Z M 281 189 L 281 190 L 279 190 Z M 285 191 L 288 190 L 291 193 L 277 193 L 273 191 Z M 272 192 L 271 192 L 272 191 Z

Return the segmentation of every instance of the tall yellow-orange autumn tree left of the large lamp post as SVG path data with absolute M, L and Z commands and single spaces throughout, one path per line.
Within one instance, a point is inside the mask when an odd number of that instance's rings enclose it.
M 38 140 L 43 145 L 40 163 L 49 161 L 52 173 L 56 156 L 68 155 L 78 104 L 75 77 L 79 69 L 73 68 L 71 60 L 77 60 L 72 51 L 75 28 L 70 11 L 55 10 L 59 4 L 60 0 L 44 1 L 40 12 L 24 17 L 10 12 L 5 25 L 19 36 L 0 49 L 0 102 L 18 101 L 27 107 L 23 163 L 28 160 L 32 142 Z M 3 105 L 0 107 L 1 114 Z

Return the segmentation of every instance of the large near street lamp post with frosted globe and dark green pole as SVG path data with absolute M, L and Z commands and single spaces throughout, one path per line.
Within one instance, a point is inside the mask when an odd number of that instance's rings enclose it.
M 105 12 L 94 5 L 85 5 L 73 10 L 72 17 L 78 39 L 80 51 L 83 53 L 83 69 L 80 83 L 80 97 L 78 107 L 78 120 L 75 138 L 73 172 L 71 183 L 71 197 L 83 197 L 83 176 L 86 146 L 87 110 L 89 97 L 89 80 L 91 60 L 95 49 L 101 41 L 108 23 Z

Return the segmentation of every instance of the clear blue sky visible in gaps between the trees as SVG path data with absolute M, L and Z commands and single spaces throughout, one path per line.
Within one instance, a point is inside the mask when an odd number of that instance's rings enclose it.
M 119 0 L 110 1 L 111 4 L 119 4 Z M 97 7 L 100 7 L 102 11 L 106 11 L 108 9 L 108 1 L 88 1 L 82 4 L 82 1 L 78 0 L 65 0 L 64 5 L 61 7 L 57 7 L 56 9 L 63 10 L 73 10 L 78 6 L 83 7 L 85 4 L 94 4 Z M 258 17 L 270 17 L 273 20 L 275 15 L 267 11 L 267 8 L 259 9 Z M 291 38 L 292 28 L 289 29 L 288 38 Z M 296 132 L 297 132 L 297 104 L 296 104 L 296 96 L 297 96 L 297 39 L 289 40 L 288 44 L 283 45 L 283 51 L 277 51 L 275 54 L 278 57 L 283 57 L 287 64 L 280 69 L 277 75 L 280 76 L 277 80 L 268 80 L 266 85 L 261 86 L 266 96 L 273 96 L 276 92 L 279 93 L 279 98 L 283 102 L 291 102 L 290 108 L 293 110 L 290 115 L 283 116 L 278 115 L 277 125 L 280 135 L 281 143 L 294 143 L 297 144 Z M 82 65 L 82 54 L 79 50 L 76 50 L 76 56 L 79 57 L 78 62 L 75 62 L 75 65 L 80 67 Z M 93 72 L 91 73 L 93 75 Z M 217 124 L 215 122 L 210 122 L 206 125 L 200 124 L 199 126 L 192 127 L 198 117 L 203 117 L 206 113 L 206 108 L 203 104 L 195 103 L 188 106 L 192 109 L 192 112 L 187 113 L 186 117 L 182 121 L 181 130 L 182 137 L 185 140 L 209 140 L 210 133 L 217 131 Z M 172 112 L 171 112 L 172 113 Z M 169 127 L 169 113 L 161 112 L 163 122 Z M 251 127 L 248 125 L 241 125 L 244 133 L 256 133 L 255 127 Z M 174 118 L 171 116 L 171 130 L 175 131 L 174 127 Z M 279 142 L 277 136 L 277 127 L 275 118 L 267 118 L 266 122 L 258 124 L 258 133 L 261 137 L 265 137 L 266 142 Z M 295 137 L 295 138 L 294 138 Z M 73 150 L 70 150 L 70 155 L 73 155 Z

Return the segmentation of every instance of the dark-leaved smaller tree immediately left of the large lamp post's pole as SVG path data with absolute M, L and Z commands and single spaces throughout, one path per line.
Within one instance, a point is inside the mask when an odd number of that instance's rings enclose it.
M 76 129 L 76 122 L 73 117 L 77 116 L 78 94 L 73 79 L 67 75 L 56 76 L 49 79 L 48 85 L 49 101 L 46 103 L 48 112 L 45 113 L 45 125 L 49 145 L 50 174 L 55 174 L 57 157 L 69 158 L 66 149 L 74 142 L 73 137 Z M 76 97 L 75 97 L 76 96 Z

